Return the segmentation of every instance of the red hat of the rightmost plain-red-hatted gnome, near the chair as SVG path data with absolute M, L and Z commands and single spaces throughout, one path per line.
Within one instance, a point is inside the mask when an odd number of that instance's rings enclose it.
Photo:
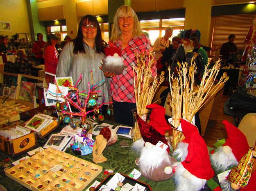
M 225 125 L 228 135 L 228 138 L 223 146 L 229 146 L 232 149 L 232 153 L 236 157 L 236 160 L 240 161 L 242 156 L 245 155 L 249 149 L 247 138 L 242 131 L 240 131 L 230 122 L 224 120 L 222 123 Z

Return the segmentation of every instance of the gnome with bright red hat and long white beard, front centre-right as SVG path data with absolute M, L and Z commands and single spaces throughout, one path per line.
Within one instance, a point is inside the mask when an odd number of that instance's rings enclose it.
M 199 191 L 214 175 L 204 139 L 199 135 L 197 128 L 192 126 L 181 119 L 182 132 L 186 138 L 179 144 L 185 147 L 185 154 L 176 154 L 185 159 L 174 164 L 175 190 Z M 181 149 L 181 145 L 178 147 Z

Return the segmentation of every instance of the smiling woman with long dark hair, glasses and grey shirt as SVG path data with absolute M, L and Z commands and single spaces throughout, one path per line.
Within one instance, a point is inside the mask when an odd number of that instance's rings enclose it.
M 72 76 L 73 82 L 82 79 L 78 84 L 79 91 L 86 90 L 88 92 L 88 82 L 92 85 L 91 71 L 93 73 L 93 84 L 101 82 L 105 76 L 100 61 L 106 56 L 104 54 L 105 47 L 102 44 L 102 36 L 100 25 L 94 16 L 84 16 L 78 28 L 77 37 L 68 42 L 61 51 L 57 67 L 57 77 Z M 105 102 L 109 101 L 109 80 L 97 85 L 97 91 L 102 91 L 98 100 L 103 101 L 103 93 L 105 94 Z

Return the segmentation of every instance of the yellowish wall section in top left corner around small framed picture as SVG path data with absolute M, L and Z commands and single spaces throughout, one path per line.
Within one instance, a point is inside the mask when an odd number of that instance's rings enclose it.
M 9 21 L 12 27 L 11 32 L 0 31 L 0 34 L 11 38 L 15 33 L 30 33 L 26 0 L 0 0 L 0 5 L 0 21 Z

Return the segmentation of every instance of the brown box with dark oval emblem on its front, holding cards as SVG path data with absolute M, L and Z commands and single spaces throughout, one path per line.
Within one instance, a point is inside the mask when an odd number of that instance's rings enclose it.
M 0 136 L 0 149 L 12 157 L 26 153 L 37 146 L 36 132 L 29 133 L 22 137 L 8 140 Z

